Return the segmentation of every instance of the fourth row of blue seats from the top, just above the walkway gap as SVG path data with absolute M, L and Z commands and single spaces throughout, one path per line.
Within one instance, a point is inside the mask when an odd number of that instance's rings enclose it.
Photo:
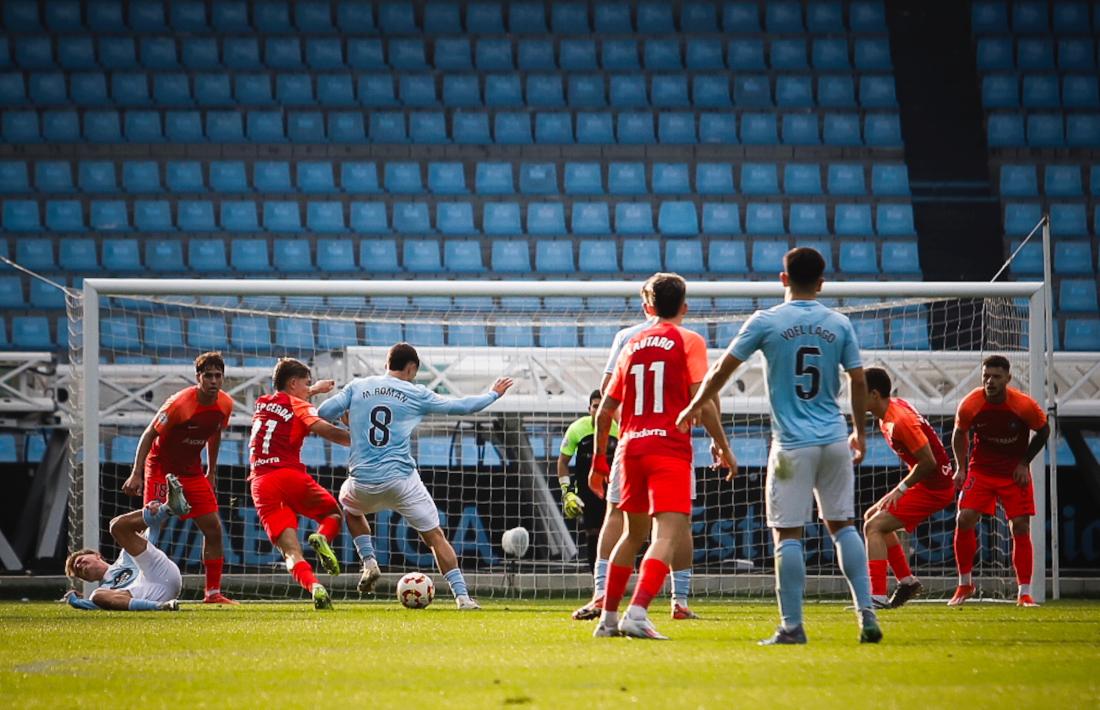
M 534 116 L 534 119 L 532 119 Z M 996 117 L 994 117 L 996 118 Z M 1030 117 L 1036 119 L 1040 117 Z M 1085 144 L 1100 143 L 1100 117 Z M 992 120 L 991 133 L 992 133 Z M 1019 117 L 1023 140 L 1023 117 Z M 1060 117 L 1058 117 L 1060 120 Z M 575 127 L 574 127 L 575 123 Z M 492 125 L 492 131 L 491 131 Z M 1059 129 L 1060 130 L 1060 129 Z M 1074 129 L 1076 130 L 1076 129 Z M 1071 136 L 1076 135 L 1071 131 Z M 1012 134 L 1008 141 L 1018 140 Z M 1071 141 L 1078 139 L 1071 138 Z M 9 110 L 0 142 L 26 143 L 376 143 L 529 145 L 745 144 L 900 148 L 897 113 L 688 111 L 161 111 Z M 992 141 L 992 134 L 991 134 Z M 1072 143 L 1071 143 L 1072 144 Z

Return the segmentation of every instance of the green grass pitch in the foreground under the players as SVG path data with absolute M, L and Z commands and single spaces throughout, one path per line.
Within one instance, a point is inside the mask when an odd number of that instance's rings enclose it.
M 654 610 L 671 642 L 592 638 L 572 602 L 186 605 L 179 613 L 0 604 L 0 707 L 1096 707 L 1100 603 L 913 604 L 860 646 L 853 613 L 806 610 L 810 645 L 760 648 L 770 604 Z M 461 704 L 457 704 L 461 703 Z

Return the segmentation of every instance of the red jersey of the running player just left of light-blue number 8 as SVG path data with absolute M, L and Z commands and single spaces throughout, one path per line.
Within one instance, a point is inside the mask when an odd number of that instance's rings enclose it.
M 317 407 L 286 392 L 258 397 L 249 437 L 252 476 L 263 476 L 276 469 L 305 472 L 301 443 L 309 435 L 309 427 L 320 418 Z

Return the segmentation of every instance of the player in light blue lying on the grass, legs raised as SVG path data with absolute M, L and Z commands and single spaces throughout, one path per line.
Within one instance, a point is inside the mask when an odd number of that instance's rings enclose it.
M 165 481 L 167 502 L 150 501 L 140 511 L 111 520 L 111 537 L 122 551 L 113 565 L 97 550 L 78 549 L 65 560 L 65 574 L 99 587 L 88 599 L 72 591 L 66 601 L 74 609 L 111 611 L 177 611 L 184 578 L 167 555 L 142 536 L 163 525 L 169 515 L 186 515 L 189 506 L 183 485 L 170 473 Z

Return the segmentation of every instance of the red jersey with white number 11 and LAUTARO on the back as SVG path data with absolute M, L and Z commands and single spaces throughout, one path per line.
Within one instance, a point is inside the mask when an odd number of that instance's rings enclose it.
M 625 456 L 692 460 L 691 434 L 676 429 L 676 416 L 706 369 L 703 337 L 671 323 L 658 321 L 626 342 L 607 385 L 607 394 L 623 403 L 619 446 Z

